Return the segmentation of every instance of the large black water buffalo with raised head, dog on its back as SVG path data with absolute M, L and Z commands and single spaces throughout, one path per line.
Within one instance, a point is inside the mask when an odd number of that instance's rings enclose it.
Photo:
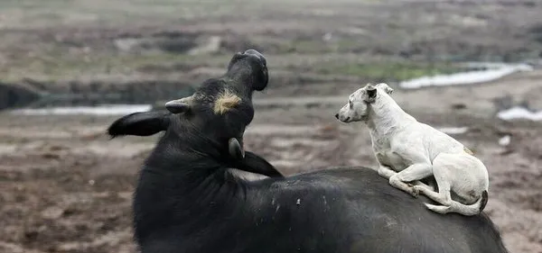
M 266 75 L 265 59 L 250 50 L 174 113 L 134 113 L 109 127 L 112 136 L 164 131 L 135 189 L 141 252 L 507 252 L 486 214 L 430 212 L 424 196 L 397 190 L 367 167 L 257 181 L 231 174 L 221 154 L 229 138 L 242 138 L 252 92 L 266 86 Z M 224 94 L 240 99 L 217 110 Z

